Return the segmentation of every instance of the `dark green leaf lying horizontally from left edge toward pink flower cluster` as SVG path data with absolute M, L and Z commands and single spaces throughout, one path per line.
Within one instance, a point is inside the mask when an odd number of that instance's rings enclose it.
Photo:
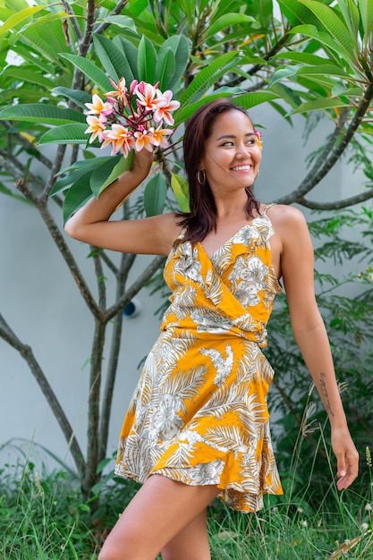
M 65 124 L 85 123 L 85 116 L 73 109 L 62 109 L 42 103 L 15 105 L 0 112 L 0 120 L 26 121 L 29 123 Z

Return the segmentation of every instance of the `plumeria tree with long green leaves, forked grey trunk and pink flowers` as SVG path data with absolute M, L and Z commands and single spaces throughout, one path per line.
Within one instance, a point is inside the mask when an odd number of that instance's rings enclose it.
M 278 6 L 271 0 L 0 3 L 0 193 L 38 210 L 92 314 L 87 454 L 47 372 L 13 332 L 12 318 L 1 314 L 0 335 L 38 380 L 71 442 L 86 495 L 106 458 L 123 306 L 163 259 L 154 259 L 128 285 L 135 257 L 123 255 L 117 266 L 106 251 L 92 248 L 96 298 L 51 205 L 61 207 L 66 220 L 131 165 L 133 150 L 156 148 L 143 204 L 127 201 L 123 219 L 136 212 L 150 216 L 165 206 L 187 210 L 179 149 L 183 123 L 218 97 L 233 97 L 245 108 L 268 103 L 290 123 L 292 115 L 323 114 L 333 124 L 325 145 L 309 158 L 306 176 L 279 201 L 333 209 L 373 197 L 373 5 L 369 0 L 278 0 Z M 44 148 L 49 145 L 55 146 L 53 158 Z M 365 174 L 361 191 L 342 200 L 312 199 L 314 188 L 346 153 Z M 35 161 L 47 170 L 46 181 L 34 173 Z M 111 303 L 100 281 L 105 270 L 116 284 Z M 106 340 L 109 322 L 114 322 L 113 335 Z M 103 376 L 107 346 L 110 359 Z

